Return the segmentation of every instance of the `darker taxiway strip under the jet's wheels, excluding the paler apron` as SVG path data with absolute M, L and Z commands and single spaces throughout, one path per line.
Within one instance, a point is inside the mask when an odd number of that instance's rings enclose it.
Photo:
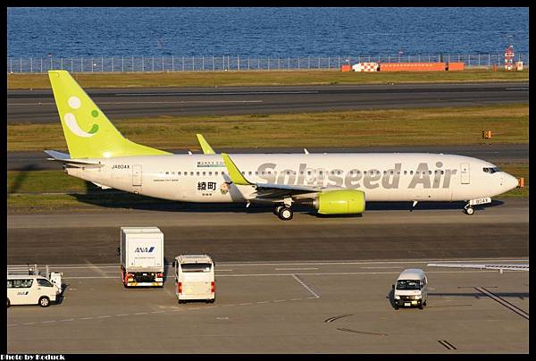
M 136 207 L 136 205 L 132 205 Z M 207 253 L 220 262 L 528 256 L 528 198 L 463 203 L 369 203 L 362 216 L 320 216 L 296 208 L 283 222 L 272 208 L 180 204 L 138 209 L 8 214 L 9 264 L 117 263 L 121 226 L 157 226 L 170 260 Z

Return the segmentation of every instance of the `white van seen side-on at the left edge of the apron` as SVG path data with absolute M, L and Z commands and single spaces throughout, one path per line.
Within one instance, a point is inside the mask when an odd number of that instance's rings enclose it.
M 7 306 L 39 305 L 50 306 L 60 290 L 40 275 L 9 274 L 7 276 Z

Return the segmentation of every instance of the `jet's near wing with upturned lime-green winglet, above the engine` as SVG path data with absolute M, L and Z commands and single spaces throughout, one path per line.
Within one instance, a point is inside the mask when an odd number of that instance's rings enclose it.
M 247 181 L 244 177 L 244 174 L 239 171 L 239 168 L 234 164 L 230 159 L 230 156 L 227 153 L 222 153 L 223 162 L 227 167 L 229 172 L 230 181 L 239 186 L 252 186 L 255 187 L 256 197 L 259 199 L 266 198 L 280 198 L 280 197 L 289 197 L 296 196 L 299 194 L 306 193 L 317 193 L 322 191 L 321 187 L 307 187 L 307 186 L 287 186 L 284 184 L 275 184 L 275 183 L 253 183 Z

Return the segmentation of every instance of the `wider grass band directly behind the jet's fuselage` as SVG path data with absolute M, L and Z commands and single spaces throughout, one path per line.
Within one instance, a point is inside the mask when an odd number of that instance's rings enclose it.
M 113 121 L 128 139 L 161 149 L 200 150 L 196 133 L 214 149 L 237 147 L 370 147 L 529 141 L 529 107 L 482 105 L 423 109 L 333 111 L 232 116 L 160 116 Z M 59 120 L 8 124 L 8 151 L 67 150 Z

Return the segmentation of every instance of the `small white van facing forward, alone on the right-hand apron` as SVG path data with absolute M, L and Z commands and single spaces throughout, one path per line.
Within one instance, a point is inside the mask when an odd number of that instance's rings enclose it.
M 400 273 L 397 284 L 393 284 L 395 309 L 418 306 L 423 309 L 428 299 L 428 280 L 424 271 L 410 268 Z

